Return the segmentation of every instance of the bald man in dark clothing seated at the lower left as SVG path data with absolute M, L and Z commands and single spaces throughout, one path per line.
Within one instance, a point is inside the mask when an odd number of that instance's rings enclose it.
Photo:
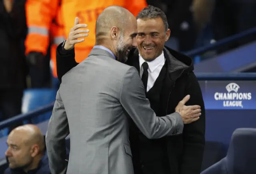
M 16 127 L 7 139 L 4 174 L 50 174 L 44 135 L 35 125 Z

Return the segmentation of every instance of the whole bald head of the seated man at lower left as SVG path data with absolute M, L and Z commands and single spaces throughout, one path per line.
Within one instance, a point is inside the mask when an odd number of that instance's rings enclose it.
M 44 155 L 44 136 L 35 125 L 16 127 L 8 135 L 8 149 L 5 152 L 10 168 L 28 170 L 37 168 Z

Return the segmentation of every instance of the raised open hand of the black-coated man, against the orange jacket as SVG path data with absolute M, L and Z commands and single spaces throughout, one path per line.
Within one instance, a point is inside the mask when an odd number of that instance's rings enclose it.
M 87 25 L 84 23 L 79 24 L 79 18 L 76 17 L 74 26 L 70 29 L 68 33 L 68 38 L 65 42 L 64 49 L 70 50 L 75 47 L 76 43 L 80 43 L 84 41 L 84 38 L 80 39 L 81 37 L 87 37 L 89 30 L 88 29 L 80 29 L 86 28 Z

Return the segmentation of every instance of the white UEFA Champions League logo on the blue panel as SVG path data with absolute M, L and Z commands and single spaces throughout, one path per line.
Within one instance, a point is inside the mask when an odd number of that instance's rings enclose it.
M 241 107 L 243 108 L 243 100 L 251 100 L 252 93 L 238 92 L 240 86 L 236 83 L 230 83 L 226 86 L 227 93 L 216 92 L 214 94 L 215 100 L 223 100 L 224 107 Z

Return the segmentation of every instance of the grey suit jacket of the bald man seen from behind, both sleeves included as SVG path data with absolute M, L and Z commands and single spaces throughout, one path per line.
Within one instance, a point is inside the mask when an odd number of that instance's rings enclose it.
M 62 77 L 46 133 L 52 174 L 133 174 L 131 119 L 149 139 L 182 133 L 180 114 L 156 117 L 144 91 L 136 68 L 92 49 Z

